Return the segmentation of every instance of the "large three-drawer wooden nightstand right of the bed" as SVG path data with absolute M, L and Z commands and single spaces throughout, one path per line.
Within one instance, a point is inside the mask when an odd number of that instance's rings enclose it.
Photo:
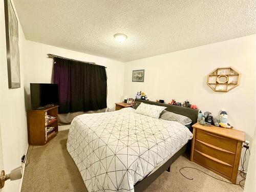
M 196 123 L 193 135 L 190 161 L 236 183 L 245 133 Z

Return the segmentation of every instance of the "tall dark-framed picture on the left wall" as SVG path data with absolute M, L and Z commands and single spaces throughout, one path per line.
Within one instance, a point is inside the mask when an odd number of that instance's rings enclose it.
M 18 20 L 10 0 L 5 2 L 5 28 L 9 88 L 20 88 Z

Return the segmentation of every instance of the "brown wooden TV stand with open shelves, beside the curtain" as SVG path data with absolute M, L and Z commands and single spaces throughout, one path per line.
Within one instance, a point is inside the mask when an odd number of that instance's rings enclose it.
M 47 115 L 55 119 L 47 122 Z M 47 127 L 54 129 L 47 133 Z M 58 133 L 58 106 L 52 106 L 42 110 L 28 111 L 28 139 L 29 144 L 44 145 Z

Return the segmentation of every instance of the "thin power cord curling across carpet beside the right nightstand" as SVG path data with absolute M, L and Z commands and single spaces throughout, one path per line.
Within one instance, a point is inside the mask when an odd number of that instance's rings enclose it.
M 232 184 L 232 185 L 239 185 L 241 188 L 244 188 L 244 185 L 242 185 L 241 182 L 243 182 L 243 181 L 246 179 L 246 171 L 247 171 L 247 170 L 244 169 L 244 163 L 245 163 L 245 161 L 246 161 L 246 152 L 247 152 L 247 150 L 249 151 L 249 155 L 251 154 L 249 148 L 246 148 L 245 153 L 244 153 L 244 156 L 243 156 L 243 161 L 242 161 L 242 158 L 241 158 L 241 169 L 240 169 L 240 173 L 239 173 L 240 176 L 241 176 L 243 179 L 242 179 L 241 181 L 239 181 L 239 183 L 234 184 L 234 183 L 230 183 L 230 182 L 228 182 L 228 181 L 224 181 L 224 180 L 222 180 L 222 179 L 219 179 L 219 178 L 217 178 L 217 177 L 214 177 L 214 176 L 211 176 L 211 175 L 207 174 L 207 173 L 204 172 L 203 170 L 200 170 L 200 169 L 195 168 L 195 167 L 190 167 L 190 166 L 186 166 L 186 167 L 180 168 L 180 174 L 181 174 L 183 177 L 185 177 L 186 179 L 193 180 L 194 178 L 188 178 L 188 177 L 186 177 L 184 174 L 182 174 L 182 173 L 181 173 L 181 170 L 184 169 L 184 168 L 196 169 L 196 170 L 199 170 L 199 172 L 202 172 L 202 173 L 204 173 L 204 174 L 210 176 L 211 178 L 214 178 L 214 179 L 217 179 L 217 180 L 219 180 L 219 181 L 222 181 L 222 182 L 225 182 L 225 183 L 229 183 L 229 184 Z

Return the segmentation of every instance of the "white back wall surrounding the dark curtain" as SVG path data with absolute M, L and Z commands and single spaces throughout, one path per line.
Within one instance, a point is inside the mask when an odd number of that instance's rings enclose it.
M 114 109 L 115 102 L 119 102 L 123 95 L 123 70 L 124 63 L 109 58 L 79 53 L 67 49 L 57 48 L 34 41 L 26 41 L 27 62 L 27 84 L 26 84 L 26 105 L 30 106 L 29 83 L 40 82 L 50 83 L 52 80 L 53 59 L 47 54 L 55 54 L 81 61 L 95 62 L 97 65 L 105 66 L 108 76 L 108 108 Z

